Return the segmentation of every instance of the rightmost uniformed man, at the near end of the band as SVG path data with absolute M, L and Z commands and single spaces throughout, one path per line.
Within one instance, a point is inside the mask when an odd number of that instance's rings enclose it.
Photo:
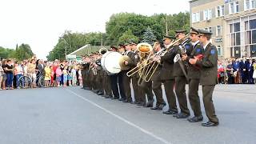
M 206 110 L 206 116 L 209 121 L 202 123 L 202 126 L 218 126 L 218 118 L 215 114 L 213 92 L 214 86 L 218 83 L 217 66 L 218 66 L 218 50 L 216 46 L 210 43 L 211 34 L 206 30 L 198 30 L 199 41 L 203 46 L 203 58 L 190 58 L 192 65 L 201 66 L 200 83 L 202 85 L 202 99 Z

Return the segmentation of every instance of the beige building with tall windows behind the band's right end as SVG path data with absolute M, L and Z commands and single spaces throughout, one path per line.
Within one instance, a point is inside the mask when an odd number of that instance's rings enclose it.
M 192 0 L 190 26 L 213 33 L 219 58 L 256 58 L 256 0 Z

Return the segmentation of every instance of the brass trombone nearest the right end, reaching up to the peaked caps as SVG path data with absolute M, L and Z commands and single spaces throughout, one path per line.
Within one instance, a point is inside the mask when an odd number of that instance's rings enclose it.
M 186 36 L 184 38 L 179 38 L 178 40 L 172 42 L 169 47 L 167 47 L 166 49 L 162 49 L 158 54 L 155 54 L 154 57 L 164 56 L 168 51 L 170 51 L 173 48 L 174 45 L 177 45 L 182 39 L 186 39 L 185 41 L 187 42 L 187 40 L 189 39 L 189 36 L 190 36 L 190 34 L 186 34 Z M 183 42 L 185 42 L 185 41 L 183 41 Z M 158 69 L 158 66 L 160 65 L 160 63 L 157 61 L 151 61 L 149 64 L 151 64 L 152 62 L 153 62 L 153 64 L 152 64 L 152 66 L 150 66 L 150 70 L 147 70 L 146 74 L 145 74 L 144 79 L 146 82 L 150 82 L 150 79 L 153 77 L 155 71 Z M 154 66 L 154 65 L 156 65 L 156 66 Z M 153 70 L 153 71 L 151 72 L 151 70 Z

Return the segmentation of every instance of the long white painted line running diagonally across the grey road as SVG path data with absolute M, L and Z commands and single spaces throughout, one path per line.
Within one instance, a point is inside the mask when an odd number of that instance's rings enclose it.
M 89 99 L 84 98 L 84 97 L 82 97 L 82 96 L 79 95 L 79 94 L 76 94 L 74 91 L 68 90 L 68 89 L 66 89 L 66 90 L 69 91 L 71 94 L 74 94 L 74 95 L 77 96 L 78 98 L 81 98 L 82 100 L 84 100 L 84 101 L 86 101 L 86 102 L 89 102 L 90 104 L 92 104 L 92 105 L 98 107 L 99 109 L 105 111 L 106 113 L 108 113 L 108 114 L 114 116 L 115 118 L 118 118 L 118 119 L 121 120 L 122 122 L 126 122 L 126 124 L 128 124 L 128 125 L 134 126 L 136 129 L 141 130 L 143 133 L 150 135 L 152 138 L 158 139 L 159 141 L 161 141 L 161 142 L 163 142 L 163 143 L 165 143 L 165 144 L 171 144 L 170 142 L 166 141 L 166 139 L 158 137 L 157 135 L 151 133 L 150 131 L 145 130 L 145 129 L 143 129 L 142 127 L 140 127 L 140 126 L 134 124 L 133 122 L 130 122 L 130 121 L 126 120 L 126 118 L 122 118 L 121 116 L 119 116 L 119 115 L 117 115 L 117 114 L 114 114 L 114 113 L 113 113 L 112 111 L 110 111 L 110 110 L 106 110 L 104 107 L 99 106 L 99 105 L 96 104 L 95 102 L 91 102 Z

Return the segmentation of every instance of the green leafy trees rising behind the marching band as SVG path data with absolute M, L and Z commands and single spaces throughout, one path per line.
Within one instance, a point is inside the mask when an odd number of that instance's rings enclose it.
M 103 45 L 117 45 L 119 43 L 142 42 L 145 41 L 145 35 L 149 29 L 150 34 L 154 34 L 155 38 L 162 40 L 163 35 L 166 35 L 166 23 L 168 35 L 174 35 L 174 30 L 189 30 L 190 14 L 154 14 L 146 16 L 134 13 L 119 13 L 113 14 L 110 20 L 106 22 L 106 34 L 102 33 L 72 33 L 65 31 L 62 38 L 58 39 L 54 49 L 47 56 L 48 60 L 65 59 L 66 54 L 70 54 L 74 50 L 90 44 L 100 46 L 102 35 Z M 65 41 L 64 41 L 65 39 Z

